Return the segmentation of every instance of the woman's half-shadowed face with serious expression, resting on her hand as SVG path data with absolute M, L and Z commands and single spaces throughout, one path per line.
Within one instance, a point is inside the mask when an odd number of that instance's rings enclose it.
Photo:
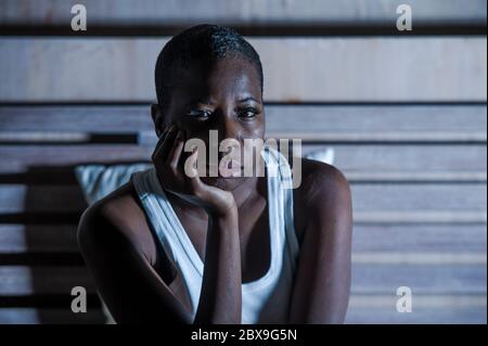
M 260 78 L 253 63 L 239 57 L 227 57 L 213 64 L 198 62 L 179 77 L 166 110 L 153 107 L 156 132 L 176 124 L 187 134 L 187 140 L 202 140 L 209 151 L 218 152 L 218 162 L 229 154 L 218 150 L 223 139 L 239 143 L 231 150 L 243 157 L 253 157 L 245 139 L 264 139 L 265 110 Z M 218 140 L 210 141 L 210 130 Z M 229 143 L 232 143 L 229 142 Z M 247 151 L 247 153 L 245 153 Z M 208 168 L 209 169 L 209 168 Z M 232 189 L 245 178 L 202 178 L 206 183 Z

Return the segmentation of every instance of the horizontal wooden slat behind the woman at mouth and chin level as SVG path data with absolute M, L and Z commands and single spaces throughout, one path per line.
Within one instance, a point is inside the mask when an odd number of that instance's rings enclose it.
M 332 148 L 334 165 L 346 172 L 486 172 L 486 145 L 321 144 L 303 153 Z M 136 144 L 1 145 L 0 175 L 81 163 L 149 162 L 153 148 Z

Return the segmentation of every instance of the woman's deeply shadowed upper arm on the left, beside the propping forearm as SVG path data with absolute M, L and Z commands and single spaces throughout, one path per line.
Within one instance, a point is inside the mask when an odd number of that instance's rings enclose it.
M 81 216 L 78 244 L 98 291 L 117 323 L 191 323 L 184 306 L 103 207 Z

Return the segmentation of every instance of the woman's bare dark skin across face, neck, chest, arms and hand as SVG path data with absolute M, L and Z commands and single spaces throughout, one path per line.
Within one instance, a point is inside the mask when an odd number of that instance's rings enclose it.
M 152 159 L 164 189 L 205 264 L 195 323 L 240 323 L 241 283 L 270 266 L 266 178 L 189 178 L 183 152 L 189 138 L 264 138 L 259 76 L 244 59 L 195 63 L 181 75 L 167 107 L 152 106 L 160 140 Z M 222 154 L 223 155 L 223 154 Z M 342 323 L 350 290 L 351 202 L 335 167 L 303 159 L 294 190 L 300 252 L 291 296 L 290 323 Z M 131 183 L 90 206 L 78 242 L 97 286 L 118 323 L 192 323 L 168 289 L 175 267 L 157 252 Z

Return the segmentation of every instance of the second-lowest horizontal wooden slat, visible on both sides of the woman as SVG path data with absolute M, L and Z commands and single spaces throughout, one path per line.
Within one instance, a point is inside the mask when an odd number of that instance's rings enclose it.
M 84 267 L 0 266 L 0 295 L 67 294 L 73 286 L 94 292 Z M 354 294 L 395 294 L 409 286 L 416 294 L 486 294 L 485 265 L 352 266 Z

